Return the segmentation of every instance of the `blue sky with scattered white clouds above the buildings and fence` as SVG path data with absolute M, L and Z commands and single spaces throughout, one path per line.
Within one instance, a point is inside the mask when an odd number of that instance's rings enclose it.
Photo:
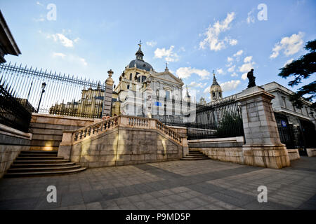
M 46 7 L 56 6 L 56 20 Z M 258 20 L 265 4 L 267 20 Z M 22 55 L 8 62 L 114 81 L 143 42 L 145 61 L 183 78 L 197 99 L 209 102 L 212 71 L 223 96 L 246 88 L 254 68 L 256 84 L 289 80 L 279 68 L 305 54 L 316 38 L 316 1 L 0 1 Z M 264 15 L 264 14 L 260 14 Z M 261 17 L 262 18 L 262 17 Z M 315 80 L 315 75 L 304 83 Z M 296 88 L 291 90 L 296 90 Z

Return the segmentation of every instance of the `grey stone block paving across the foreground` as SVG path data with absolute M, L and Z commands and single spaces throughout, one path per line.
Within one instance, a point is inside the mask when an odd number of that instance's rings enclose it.
M 48 203 L 48 186 L 57 202 Z M 257 200 L 258 186 L 268 202 Z M 0 179 L 0 209 L 316 209 L 316 158 L 266 169 L 214 160 L 88 169 L 66 176 Z

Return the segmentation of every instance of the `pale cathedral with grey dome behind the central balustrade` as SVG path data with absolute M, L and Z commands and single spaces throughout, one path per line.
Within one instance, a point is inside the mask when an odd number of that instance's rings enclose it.
M 188 91 L 183 97 L 183 80 L 174 76 L 167 65 L 164 71 L 155 71 L 143 57 L 140 43 L 136 59 L 125 67 L 119 76 L 119 84 L 114 86 L 112 116 L 121 113 L 145 116 L 143 105 L 149 95 L 152 97 L 152 105 L 150 105 L 152 118 L 183 115 L 180 104 L 183 104 L 183 99 L 190 100 Z

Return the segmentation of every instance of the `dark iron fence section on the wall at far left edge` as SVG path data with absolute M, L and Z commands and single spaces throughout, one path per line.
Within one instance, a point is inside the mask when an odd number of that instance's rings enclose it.
M 0 78 L 0 123 L 28 132 L 34 108 L 27 100 L 15 97 L 13 88 Z

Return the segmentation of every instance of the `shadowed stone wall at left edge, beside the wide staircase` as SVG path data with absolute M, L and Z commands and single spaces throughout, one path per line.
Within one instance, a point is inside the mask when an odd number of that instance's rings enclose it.
M 29 150 L 32 134 L 0 124 L 0 178 L 10 168 L 20 151 Z

